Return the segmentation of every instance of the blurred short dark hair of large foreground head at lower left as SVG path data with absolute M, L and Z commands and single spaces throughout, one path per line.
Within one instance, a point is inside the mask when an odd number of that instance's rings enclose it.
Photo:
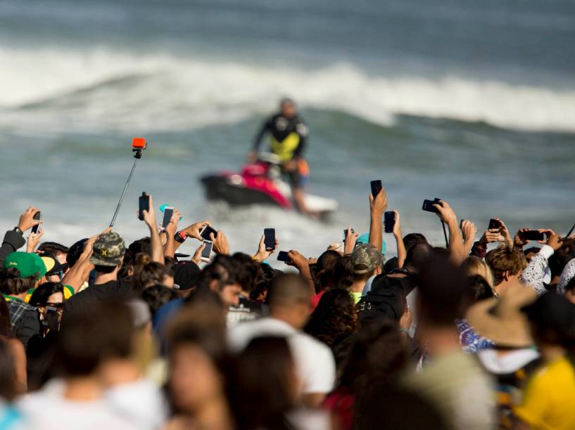
M 56 347 L 58 365 L 68 377 L 93 374 L 106 358 L 128 356 L 133 334 L 132 313 L 125 304 L 95 302 L 89 313 L 70 313 L 63 321 Z

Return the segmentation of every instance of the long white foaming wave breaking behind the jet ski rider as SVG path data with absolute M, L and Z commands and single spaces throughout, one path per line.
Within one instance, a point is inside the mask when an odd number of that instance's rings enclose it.
M 269 112 L 289 95 L 377 124 L 446 117 L 525 130 L 575 130 L 575 89 L 367 74 L 350 64 L 305 70 L 173 55 L 0 48 L 0 125 L 44 131 L 177 131 Z

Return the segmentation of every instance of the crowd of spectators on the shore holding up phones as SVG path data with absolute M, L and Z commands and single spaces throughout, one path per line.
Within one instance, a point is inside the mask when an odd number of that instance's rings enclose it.
M 0 429 L 575 429 L 575 237 L 477 237 L 440 200 L 447 246 L 395 211 L 386 259 L 381 190 L 367 235 L 278 270 L 281 240 L 205 261 L 210 222 L 149 203 L 129 245 L 42 242 L 34 207 L 4 236 Z

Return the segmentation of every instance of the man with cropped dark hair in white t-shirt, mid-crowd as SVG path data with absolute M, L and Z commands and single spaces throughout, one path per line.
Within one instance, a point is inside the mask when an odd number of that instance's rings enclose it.
M 241 323 L 229 331 L 232 350 L 260 336 L 286 337 L 301 379 L 303 404 L 315 408 L 334 386 L 336 369 L 329 347 L 301 332 L 310 316 L 310 289 L 298 275 L 280 275 L 267 293 L 270 316 Z

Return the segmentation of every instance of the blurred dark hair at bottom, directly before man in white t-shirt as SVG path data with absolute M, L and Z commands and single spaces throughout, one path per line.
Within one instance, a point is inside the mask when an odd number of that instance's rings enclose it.
M 228 389 L 238 430 L 291 429 L 285 415 L 294 406 L 294 369 L 283 337 L 256 337 L 239 353 Z

